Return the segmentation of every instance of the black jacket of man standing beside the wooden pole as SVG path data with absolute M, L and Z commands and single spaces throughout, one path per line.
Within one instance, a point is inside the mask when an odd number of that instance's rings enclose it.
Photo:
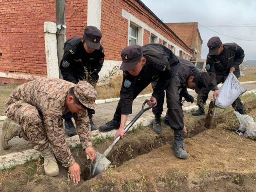
M 101 45 L 99 50 L 88 54 L 80 37 L 74 37 L 65 42 L 64 55 L 60 65 L 63 78 L 73 83 L 87 80 L 90 84 L 95 85 L 104 62 L 103 50 Z

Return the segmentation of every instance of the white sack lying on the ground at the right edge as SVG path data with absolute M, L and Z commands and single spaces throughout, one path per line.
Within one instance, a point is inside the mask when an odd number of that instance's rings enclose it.
M 249 137 L 256 140 L 256 123 L 253 118 L 248 115 L 241 115 L 237 111 L 234 111 L 239 121 L 239 131 L 244 133 L 244 137 Z

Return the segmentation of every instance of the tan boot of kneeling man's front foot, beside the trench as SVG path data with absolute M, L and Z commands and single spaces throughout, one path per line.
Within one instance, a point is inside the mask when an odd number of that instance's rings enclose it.
M 44 158 L 45 175 L 49 177 L 57 176 L 59 173 L 59 169 L 52 151 L 50 151 L 49 148 L 46 148 L 45 150 L 41 151 L 41 153 L 42 157 Z

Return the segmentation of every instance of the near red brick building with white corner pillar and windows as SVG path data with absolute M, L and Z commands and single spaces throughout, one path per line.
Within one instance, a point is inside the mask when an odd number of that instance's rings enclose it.
M 120 65 L 120 51 L 132 44 L 161 43 L 177 56 L 193 56 L 191 46 L 140 0 L 66 0 L 65 11 L 67 39 L 81 36 L 86 25 L 102 31 L 105 62 L 100 76 Z M 56 22 L 55 0 L 1 1 L 0 83 L 47 77 L 45 21 Z

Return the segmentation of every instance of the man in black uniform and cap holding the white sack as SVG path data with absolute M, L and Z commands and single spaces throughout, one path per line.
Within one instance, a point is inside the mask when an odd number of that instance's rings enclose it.
M 214 91 L 213 97 L 216 98 L 218 96 L 218 84 L 226 80 L 230 71 L 237 78 L 240 77 L 239 65 L 244 60 L 244 50 L 236 43 L 222 44 L 219 37 L 212 37 L 207 46 L 209 54 L 206 60 L 206 70 L 210 75 L 211 82 L 198 95 L 198 110 L 192 113 L 193 116 L 204 115 L 204 105 L 210 90 Z M 239 97 L 233 102 L 232 107 L 240 114 L 246 114 L 244 104 Z

